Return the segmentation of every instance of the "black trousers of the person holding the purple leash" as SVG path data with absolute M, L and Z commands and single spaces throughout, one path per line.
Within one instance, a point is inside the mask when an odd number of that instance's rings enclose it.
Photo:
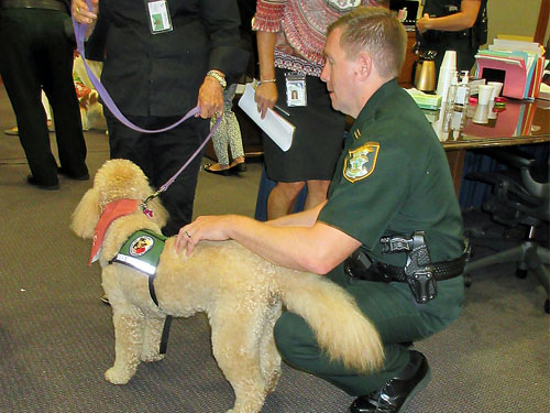
M 165 128 L 182 117 L 127 117 L 132 123 L 148 130 Z M 142 133 L 121 123 L 106 110 L 111 159 L 127 159 L 138 164 L 158 189 L 187 162 L 208 135 L 209 121 L 190 118 L 177 128 L 162 133 Z M 177 180 L 161 194 L 169 213 L 163 228 L 165 236 L 176 235 L 193 219 L 193 204 L 198 173 L 205 149 L 182 172 Z

